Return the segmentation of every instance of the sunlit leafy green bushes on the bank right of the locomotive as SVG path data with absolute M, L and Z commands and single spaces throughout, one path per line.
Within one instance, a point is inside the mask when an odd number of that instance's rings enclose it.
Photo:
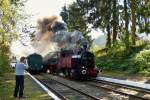
M 150 45 L 138 44 L 126 50 L 123 44 L 116 44 L 109 50 L 98 52 L 97 66 L 103 70 L 126 71 L 150 75 Z

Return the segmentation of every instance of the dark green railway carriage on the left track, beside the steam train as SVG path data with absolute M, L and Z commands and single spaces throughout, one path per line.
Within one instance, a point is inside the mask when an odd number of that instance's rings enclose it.
M 31 73 L 40 73 L 43 69 L 43 58 L 39 54 L 31 54 L 27 57 L 28 71 Z

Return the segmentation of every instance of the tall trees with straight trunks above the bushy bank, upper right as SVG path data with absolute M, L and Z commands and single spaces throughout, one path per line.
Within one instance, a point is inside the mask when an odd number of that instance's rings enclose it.
M 79 15 L 80 18 L 84 18 L 85 24 L 89 24 L 94 29 L 99 28 L 107 34 L 106 47 L 116 45 L 119 39 L 118 42 L 123 42 L 126 49 L 129 49 L 131 44 L 136 45 L 137 33 L 150 33 L 150 2 L 148 0 L 123 0 L 123 2 L 120 0 L 77 0 L 70 7 L 73 5 L 77 9 L 72 9 L 72 12 L 78 12 L 74 14 L 75 17 Z M 64 15 L 67 15 L 65 17 L 67 22 L 72 23 L 72 25 L 68 23 L 69 27 L 80 23 L 75 20 L 75 17 L 68 17 L 69 11 L 66 10 Z M 79 27 L 82 26 L 79 25 Z

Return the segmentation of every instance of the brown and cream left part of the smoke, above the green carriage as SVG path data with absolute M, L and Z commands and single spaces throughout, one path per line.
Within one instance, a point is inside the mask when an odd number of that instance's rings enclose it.
M 58 20 L 56 16 L 38 20 L 38 32 L 34 41 L 31 42 L 35 53 L 45 56 L 49 52 L 59 51 L 57 43 L 51 40 L 54 35 L 51 26 L 56 20 Z

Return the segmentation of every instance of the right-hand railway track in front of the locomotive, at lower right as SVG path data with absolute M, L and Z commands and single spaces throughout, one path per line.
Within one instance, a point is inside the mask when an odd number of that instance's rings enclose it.
M 102 80 L 93 80 L 90 82 L 85 82 L 85 84 L 98 87 L 100 89 L 103 88 L 108 91 L 119 93 L 121 95 L 126 95 L 134 100 L 150 100 L 150 91 L 143 88 L 137 88 L 129 85 L 117 84 Z

